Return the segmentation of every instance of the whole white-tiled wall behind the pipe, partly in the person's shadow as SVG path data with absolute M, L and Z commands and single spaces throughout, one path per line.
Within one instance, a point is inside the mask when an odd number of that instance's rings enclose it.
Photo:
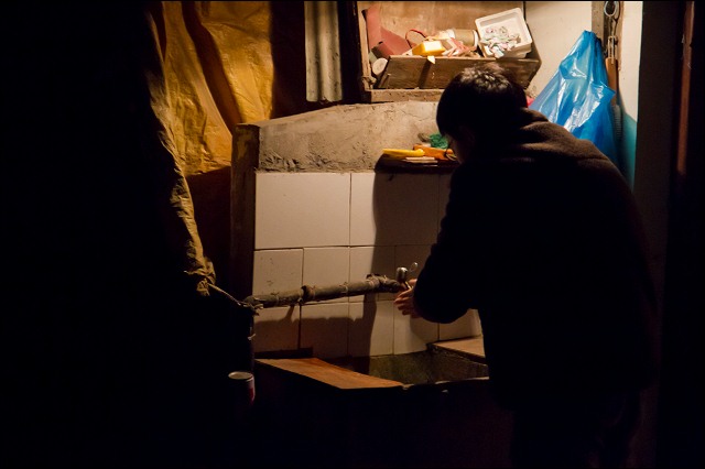
M 338 285 L 370 273 L 393 279 L 398 266 L 412 262 L 420 270 L 438 231 L 449 177 L 258 172 L 252 293 Z M 480 334 L 475 310 L 438 325 L 403 316 L 392 299 L 378 293 L 260 309 L 254 351 L 312 347 L 319 358 L 408 353 Z

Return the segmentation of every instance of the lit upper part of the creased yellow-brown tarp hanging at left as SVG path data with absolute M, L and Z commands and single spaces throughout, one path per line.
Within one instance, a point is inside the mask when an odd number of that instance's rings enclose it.
M 160 2 L 151 10 L 163 90 L 154 112 L 186 175 L 230 164 L 231 129 L 269 119 L 273 62 L 270 2 Z M 151 88 L 154 88 L 151 85 Z

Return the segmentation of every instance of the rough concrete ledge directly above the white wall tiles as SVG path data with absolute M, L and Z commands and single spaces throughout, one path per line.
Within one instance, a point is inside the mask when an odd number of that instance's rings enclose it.
M 373 171 L 383 148 L 410 149 L 419 133 L 436 133 L 437 102 L 345 105 L 238 124 L 232 165 L 256 171 Z M 241 165 L 238 165 L 242 170 Z

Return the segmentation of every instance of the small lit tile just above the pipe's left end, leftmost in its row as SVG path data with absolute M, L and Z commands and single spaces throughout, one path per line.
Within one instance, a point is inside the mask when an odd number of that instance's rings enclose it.
M 301 288 L 303 249 L 254 251 L 252 294 L 269 294 Z

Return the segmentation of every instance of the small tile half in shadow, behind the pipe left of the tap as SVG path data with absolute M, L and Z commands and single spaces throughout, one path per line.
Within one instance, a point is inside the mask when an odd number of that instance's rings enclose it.
M 394 248 L 391 246 L 364 246 L 350 248 L 350 282 L 359 282 L 369 274 L 394 279 Z M 350 302 L 393 299 L 393 293 L 372 293 L 350 296 Z

